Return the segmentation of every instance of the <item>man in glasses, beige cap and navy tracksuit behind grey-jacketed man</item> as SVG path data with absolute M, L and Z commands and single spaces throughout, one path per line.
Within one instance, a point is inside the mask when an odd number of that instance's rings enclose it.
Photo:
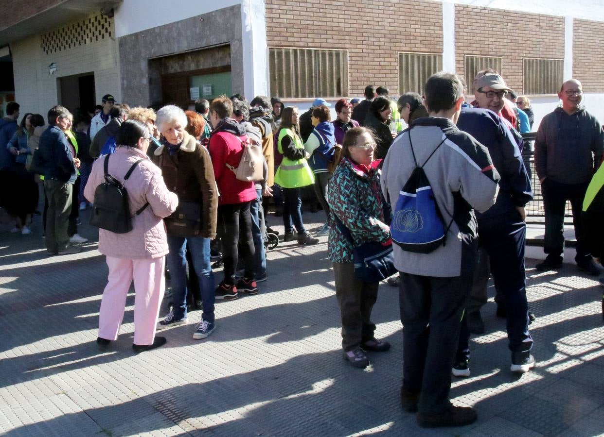
M 535 366 L 530 351 L 533 339 L 528 332 L 528 304 L 524 270 L 526 225 L 524 206 L 533 198 L 530 179 L 522 162 L 518 144 L 503 118 L 497 115 L 509 91 L 500 75 L 484 75 L 477 83 L 476 96 L 481 108 L 461 108 L 457 121 L 460 130 L 469 133 L 489 149 L 493 165 L 501 175 L 495 205 L 476 213 L 481 242 L 480 264 L 474 272 L 472 292 L 466 303 L 460 341 L 452 373 L 470 376 L 468 366 L 470 332 L 483 333 L 480 309 L 487 303 L 490 272 L 496 288 L 498 315 L 507 319 L 510 370 L 524 373 Z

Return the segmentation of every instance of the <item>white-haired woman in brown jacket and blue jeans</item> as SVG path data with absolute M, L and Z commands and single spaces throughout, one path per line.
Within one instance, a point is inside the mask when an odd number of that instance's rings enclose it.
M 214 330 L 214 274 L 210 265 L 210 240 L 216 236 L 218 193 L 210 154 L 187 133 L 187 115 L 175 106 L 162 107 L 155 121 L 161 146 L 153 161 L 161 168 L 168 189 L 178 195 L 178 209 L 165 219 L 170 253 L 166 256 L 172 281 L 172 308 L 158 327 L 188 321 L 185 250 L 190 251 L 199 278 L 202 319 L 194 339 L 206 338 Z

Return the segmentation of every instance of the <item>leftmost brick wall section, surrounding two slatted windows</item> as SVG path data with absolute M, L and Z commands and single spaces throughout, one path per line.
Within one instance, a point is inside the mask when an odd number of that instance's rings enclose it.
M 397 52 L 442 54 L 442 3 L 266 0 L 266 39 L 269 47 L 348 49 L 350 96 L 368 84 L 396 95 Z

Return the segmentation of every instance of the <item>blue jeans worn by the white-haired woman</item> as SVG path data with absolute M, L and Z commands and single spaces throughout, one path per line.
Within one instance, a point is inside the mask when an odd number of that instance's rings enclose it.
M 170 269 L 172 283 L 172 311 L 177 319 L 187 315 L 187 273 L 185 271 L 187 258 L 185 249 L 191 252 L 193 269 L 199 278 L 199 293 L 202 301 L 202 318 L 214 322 L 214 274 L 210 265 L 210 239 L 204 237 L 173 237 L 168 236 L 166 261 Z

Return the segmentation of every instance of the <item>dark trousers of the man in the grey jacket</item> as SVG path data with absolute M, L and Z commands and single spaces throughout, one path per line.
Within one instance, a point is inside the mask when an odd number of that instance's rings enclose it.
M 471 275 L 439 278 L 400 274 L 403 389 L 422 393 L 420 413 L 440 413 L 451 405 L 451 367 L 471 286 Z

